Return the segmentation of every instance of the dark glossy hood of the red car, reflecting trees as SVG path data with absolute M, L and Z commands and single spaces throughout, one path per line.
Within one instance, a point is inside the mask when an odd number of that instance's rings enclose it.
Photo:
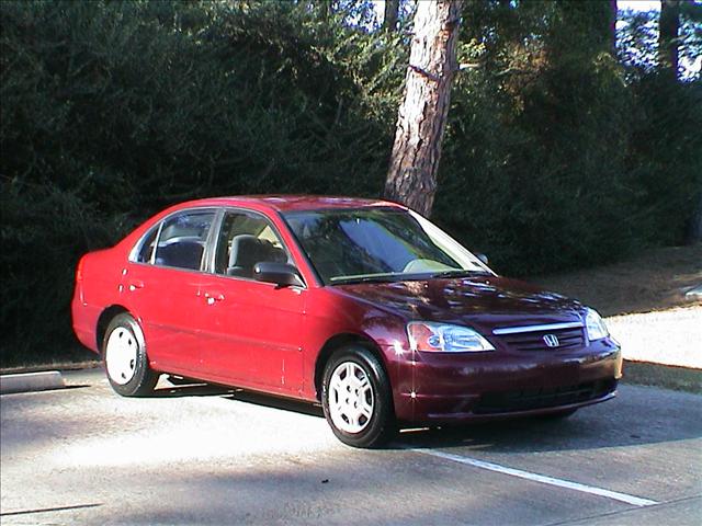
M 409 320 L 476 329 L 582 321 L 584 307 L 558 294 L 499 276 L 336 285 L 336 291 Z

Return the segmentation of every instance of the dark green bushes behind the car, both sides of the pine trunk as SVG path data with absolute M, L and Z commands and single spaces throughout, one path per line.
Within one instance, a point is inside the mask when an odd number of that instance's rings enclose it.
M 506 274 L 680 241 L 699 82 L 625 82 L 580 30 L 550 56 L 569 27 L 551 2 L 467 5 L 480 67 L 457 77 L 434 218 Z M 66 356 L 78 258 L 167 204 L 383 186 L 406 32 L 261 1 L 3 1 L 0 26 L 2 365 Z

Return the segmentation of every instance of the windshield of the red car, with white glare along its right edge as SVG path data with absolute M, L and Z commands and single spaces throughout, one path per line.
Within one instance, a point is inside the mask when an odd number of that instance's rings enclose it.
M 491 274 L 439 227 L 409 210 L 305 210 L 284 218 L 326 284 Z

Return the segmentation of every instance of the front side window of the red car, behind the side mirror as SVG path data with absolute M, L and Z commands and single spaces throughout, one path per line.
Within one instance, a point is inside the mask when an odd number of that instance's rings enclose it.
M 257 263 L 288 261 L 287 251 L 265 218 L 248 211 L 225 214 L 215 253 L 217 274 L 251 278 Z

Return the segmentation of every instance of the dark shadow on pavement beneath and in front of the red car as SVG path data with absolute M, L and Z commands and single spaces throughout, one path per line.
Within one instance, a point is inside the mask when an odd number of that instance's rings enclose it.
M 324 418 L 319 404 L 207 384 L 162 387 L 157 398 L 220 397 L 234 402 Z M 385 449 L 464 448 L 492 453 L 565 451 L 641 446 L 702 436 L 699 396 L 627 387 L 613 401 L 580 409 L 569 419 L 521 418 L 403 430 Z M 671 411 L 671 408 L 693 408 Z M 697 409 L 694 409 L 697 408 Z

